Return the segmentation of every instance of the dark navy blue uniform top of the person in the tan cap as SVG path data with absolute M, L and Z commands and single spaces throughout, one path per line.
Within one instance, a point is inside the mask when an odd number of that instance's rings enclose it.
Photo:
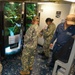
M 73 35 L 75 35 L 75 26 L 74 25 L 68 27 L 65 30 L 64 23 L 60 23 L 57 26 L 57 29 L 53 36 L 53 39 L 51 40 L 51 43 L 53 43 L 55 41 L 55 39 L 57 39 L 57 41 L 53 47 L 53 51 L 59 50 Z

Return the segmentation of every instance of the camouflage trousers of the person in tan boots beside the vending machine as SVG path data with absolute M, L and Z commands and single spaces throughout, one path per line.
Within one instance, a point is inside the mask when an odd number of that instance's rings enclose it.
M 33 67 L 35 52 L 36 50 L 32 48 L 23 49 L 21 57 L 23 71 L 28 72 L 29 68 Z

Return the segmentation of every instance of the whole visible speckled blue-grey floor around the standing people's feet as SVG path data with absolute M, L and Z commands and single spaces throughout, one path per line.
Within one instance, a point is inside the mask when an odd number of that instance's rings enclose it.
M 37 51 L 41 50 L 42 47 L 37 48 Z M 22 70 L 20 57 L 21 55 L 9 56 L 6 60 L 2 61 L 2 75 L 20 75 L 19 72 Z M 49 68 L 45 65 L 47 62 L 47 60 L 42 60 L 41 56 L 36 54 L 31 75 L 51 75 Z

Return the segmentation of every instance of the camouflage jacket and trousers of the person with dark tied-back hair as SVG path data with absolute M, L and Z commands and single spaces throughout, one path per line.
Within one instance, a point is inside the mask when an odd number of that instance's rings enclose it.
M 49 57 L 49 54 L 50 54 L 49 46 L 50 46 L 50 41 L 53 37 L 55 29 L 56 29 L 56 26 L 54 23 L 52 23 L 48 25 L 47 29 L 43 30 L 43 37 L 44 37 L 43 49 L 44 49 L 45 56 L 47 57 Z

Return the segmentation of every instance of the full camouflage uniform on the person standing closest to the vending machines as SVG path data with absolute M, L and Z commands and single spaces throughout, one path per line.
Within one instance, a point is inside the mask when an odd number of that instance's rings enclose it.
M 34 56 L 37 47 L 38 37 L 38 25 L 31 25 L 24 36 L 24 48 L 22 51 L 21 62 L 23 70 L 29 71 L 29 68 L 33 66 Z

